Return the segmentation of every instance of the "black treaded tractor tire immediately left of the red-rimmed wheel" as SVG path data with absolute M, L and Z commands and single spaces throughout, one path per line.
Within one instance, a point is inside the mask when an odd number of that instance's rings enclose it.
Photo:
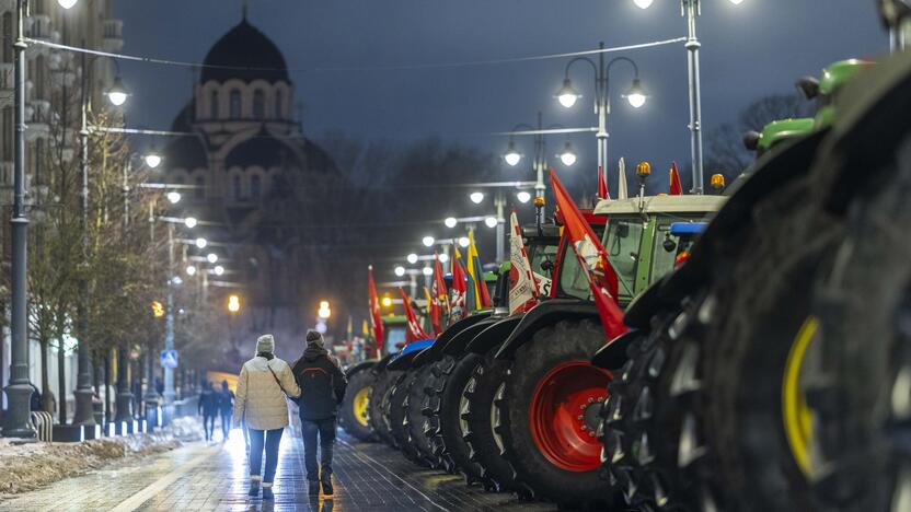
M 516 470 L 503 456 L 503 439 L 495 430 L 500 421 L 499 410 L 494 404 L 503 399 L 506 375 L 511 366 L 511 361 L 494 359 L 497 348 L 483 357 L 462 393 L 462 439 L 469 449 L 469 461 L 480 468 L 485 489 L 516 491 L 521 498 L 527 498 L 524 488 L 516 485 Z

